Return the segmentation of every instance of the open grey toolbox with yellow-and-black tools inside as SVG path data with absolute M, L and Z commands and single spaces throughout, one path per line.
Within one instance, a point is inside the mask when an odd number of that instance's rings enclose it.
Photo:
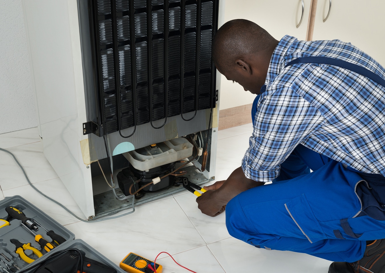
M 10 217 L 11 214 L 14 217 Z M 84 241 L 75 240 L 75 234 L 21 196 L 6 197 L 0 201 L 0 219 L 0 272 L 66 273 L 59 262 L 69 266 L 71 263 L 65 259 L 70 259 L 74 261 L 74 266 L 82 260 L 84 273 L 125 273 Z M 44 243 L 36 235 L 41 235 L 48 242 Z M 46 266 L 47 269 L 40 266 L 39 271 L 36 265 Z

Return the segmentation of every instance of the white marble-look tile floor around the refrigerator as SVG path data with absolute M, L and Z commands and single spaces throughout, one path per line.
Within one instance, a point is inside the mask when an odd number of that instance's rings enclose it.
M 217 180 L 240 166 L 251 131 L 251 124 L 246 124 L 218 132 Z M 37 188 L 84 217 L 45 159 L 37 128 L 0 134 L 0 147 L 15 154 Z M 129 252 L 153 260 L 161 251 L 198 273 L 326 273 L 331 263 L 306 254 L 258 249 L 234 239 L 226 230 L 225 215 L 202 214 L 195 196 L 187 191 L 137 206 L 135 213 L 121 218 L 84 223 L 35 192 L 13 158 L 2 151 L 0 187 L 0 199 L 22 196 L 115 264 Z M 164 273 L 189 272 L 167 255 L 159 257 Z

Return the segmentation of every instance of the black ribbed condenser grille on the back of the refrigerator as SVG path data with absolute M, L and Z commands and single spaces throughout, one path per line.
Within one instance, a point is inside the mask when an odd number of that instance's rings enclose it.
M 215 107 L 211 42 L 217 1 L 79 2 L 89 10 L 88 25 L 80 22 L 80 28 L 82 36 L 89 31 L 90 38 L 81 37 L 82 47 L 91 48 L 93 56 L 84 73 L 86 93 L 95 93 L 87 95 L 96 105 L 87 106 L 92 111 L 87 121 L 99 127 L 95 134 L 122 134 L 147 123 L 156 127 L 152 122 L 162 119 L 157 124 L 164 126 L 174 116 L 202 122 L 195 117 L 205 115 L 197 112 Z

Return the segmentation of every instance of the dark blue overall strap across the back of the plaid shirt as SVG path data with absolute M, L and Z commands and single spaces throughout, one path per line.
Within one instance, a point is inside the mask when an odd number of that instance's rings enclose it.
M 329 58 L 329 57 L 317 57 L 317 56 L 300 57 L 300 58 L 297 58 L 295 60 L 292 60 L 285 67 L 288 67 L 289 65 L 293 65 L 293 64 L 328 64 L 328 65 L 334 65 L 334 66 L 338 66 L 338 67 L 356 72 L 357 74 L 363 75 L 364 77 L 367 77 L 368 79 L 371 79 L 374 82 L 377 82 L 378 84 L 385 87 L 385 79 L 383 79 L 379 75 L 375 74 L 374 72 L 370 71 L 369 69 L 366 69 L 365 67 L 362 67 L 362 66 L 357 65 L 357 64 L 352 64 L 350 62 L 346 62 L 343 60 L 338 60 L 338 59 Z

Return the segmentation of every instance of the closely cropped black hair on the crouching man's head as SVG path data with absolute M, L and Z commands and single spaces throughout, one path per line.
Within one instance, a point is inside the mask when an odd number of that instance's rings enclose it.
M 263 28 L 245 19 L 224 23 L 213 40 L 212 56 L 222 72 L 232 72 L 236 59 L 255 54 L 276 40 Z

